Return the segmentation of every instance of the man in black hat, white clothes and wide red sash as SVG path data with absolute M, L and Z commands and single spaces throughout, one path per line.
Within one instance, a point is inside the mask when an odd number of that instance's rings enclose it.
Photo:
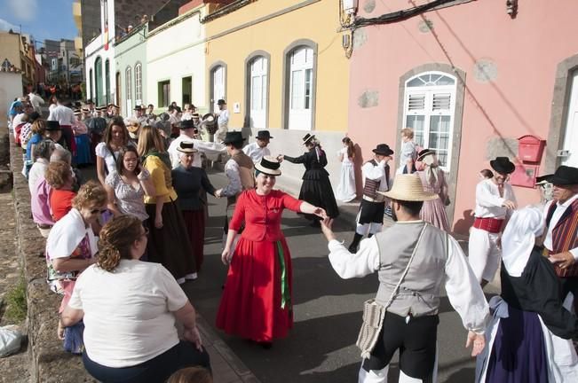
M 516 197 L 508 178 L 515 165 L 508 157 L 496 157 L 490 161 L 494 169 L 492 178 L 476 186 L 476 216 L 470 231 L 468 258 L 471 269 L 482 287 L 494 279 L 500 264 L 500 237 L 506 219 L 516 208 Z

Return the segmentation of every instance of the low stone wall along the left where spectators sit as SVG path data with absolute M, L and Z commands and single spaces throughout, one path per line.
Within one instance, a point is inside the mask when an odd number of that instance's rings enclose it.
M 24 265 L 28 294 L 28 353 L 32 382 L 96 382 L 84 370 L 80 356 L 62 349 L 57 337 L 61 296 L 51 293 L 46 284 L 45 239 L 40 236 L 30 211 L 28 181 L 22 176 L 22 152 L 10 145 L 16 214 L 17 251 Z

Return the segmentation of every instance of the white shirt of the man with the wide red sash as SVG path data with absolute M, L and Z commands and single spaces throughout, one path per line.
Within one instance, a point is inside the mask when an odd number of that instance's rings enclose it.
M 516 203 L 516 196 L 511 189 L 511 184 L 503 184 L 503 197 L 500 197 L 498 185 L 492 179 L 480 181 L 476 185 L 476 208 L 474 214 L 479 218 L 505 219 L 510 211 L 502 207 L 505 200 Z

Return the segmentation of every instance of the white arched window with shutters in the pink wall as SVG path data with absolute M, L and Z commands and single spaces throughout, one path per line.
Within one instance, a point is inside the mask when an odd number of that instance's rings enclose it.
M 418 74 L 406 82 L 405 127 L 414 129 L 417 145 L 438 153 L 449 171 L 455 113 L 455 78 L 441 72 Z

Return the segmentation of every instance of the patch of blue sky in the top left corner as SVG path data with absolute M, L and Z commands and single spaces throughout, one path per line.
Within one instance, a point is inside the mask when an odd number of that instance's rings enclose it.
M 0 0 L 0 30 L 33 35 L 38 42 L 45 39 L 74 40 L 78 35 L 72 16 L 74 0 Z

